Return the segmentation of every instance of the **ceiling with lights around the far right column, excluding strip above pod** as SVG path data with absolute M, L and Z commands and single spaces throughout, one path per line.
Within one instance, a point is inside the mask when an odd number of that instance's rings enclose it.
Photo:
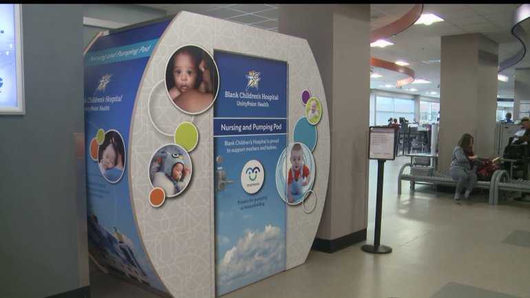
M 372 56 L 388 61 L 404 60 L 416 72 L 416 78 L 431 81 L 430 84 L 412 84 L 399 90 L 414 87 L 412 94 L 427 95 L 426 92 L 438 92 L 440 84 L 440 64 L 434 61 L 440 59 L 441 36 L 482 33 L 492 41 L 499 44 L 499 61 L 515 54 L 520 49 L 520 43 L 510 33 L 513 12 L 520 4 L 425 4 L 423 13 L 434 13 L 445 21 L 432 25 L 412 25 L 410 28 L 388 39 L 394 45 L 383 49 L 372 47 Z M 372 4 L 370 25 L 372 30 L 396 21 L 412 8 L 412 4 Z M 527 25 L 527 24 L 525 24 Z M 524 59 L 517 67 L 530 67 L 530 58 Z M 431 61 L 427 64 L 423 61 Z M 502 74 L 509 76 L 509 82 L 498 81 L 498 95 L 513 98 L 513 73 L 514 68 L 505 70 Z M 374 72 L 379 73 L 375 69 Z M 381 87 L 385 84 L 395 85 L 395 76 L 372 78 L 370 87 L 374 89 L 388 89 L 398 91 L 396 88 Z

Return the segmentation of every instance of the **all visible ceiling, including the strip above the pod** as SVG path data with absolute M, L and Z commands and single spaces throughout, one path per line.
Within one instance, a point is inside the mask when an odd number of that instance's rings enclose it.
M 173 14 L 180 10 L 205 14 L 237 23 L 277 31 L 277 4 L 138 4 L 158 10 L 165 10 Z M 412 8 L 412 4 L 372 4 L 370 5 L 370 26 L 372 30 L 396 21 Z M 412 25 L 410 28 L 388 39 L 394 45 L 384 49 L 372 47 L 374 57 L 388 61 L 404 60 L 410 63 L 408 67 L 416 72 L 416 78 L 431 81 L 430 84 L 410 84 L 402 89 L 382 87 L 395 85 L 403 78 L 403 74 L 374 68 L 374 72 L 382 74 L 381 78 L 371 78 L 370 87 L 389 91 L 420 94 L 422 96 L 437 95 L 427 92 L 437 92 L 440 84 L 440 52 L 441 36 L 482 33 L 499 44 L 499 61 L 515 54 L 520 49 L 520 43 L 510 33 L 513 12 L 520 4 L 425 4 L 423 13 L 434 13 L 445 21 L 432 25 Z M 527 22 L 527 23 L 530 23 Z M 530 24 L 524 24 L 529 27 Z M 516 65 L 530 67 L 530 55 Z M 502 74 L 509 76 L 509 82 L 498 81 L 498 95 L 503 98 L 513 98 L 514 68 L 505 70 Z M 410 92 L 407 89 L 417 89 Z

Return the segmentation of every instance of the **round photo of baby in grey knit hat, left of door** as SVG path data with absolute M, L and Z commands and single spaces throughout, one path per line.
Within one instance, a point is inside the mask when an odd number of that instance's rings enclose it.
M 167 144 L 153 153 L 147 171 L 151 187 L 160 188 L 166 198 L 173 198 L 188 187 L 193 175 L 193 164 L 186 149 L 180 145 Z

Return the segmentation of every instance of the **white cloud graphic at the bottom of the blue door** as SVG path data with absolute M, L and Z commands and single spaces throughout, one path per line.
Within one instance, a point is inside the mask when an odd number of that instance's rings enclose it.
M 284 233 L 267 224 L 263 231 L 247 231 L 218 260 L 219 295 L 285 269 Z

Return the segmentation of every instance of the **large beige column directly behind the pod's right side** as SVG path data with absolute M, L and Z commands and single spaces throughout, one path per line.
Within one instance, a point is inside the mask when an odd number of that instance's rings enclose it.
M 328 195 L 314 248 L 365 240 L 368 225 L 370 5 L 280 5 L 280 33 L 307 39 L 328 101 Z

